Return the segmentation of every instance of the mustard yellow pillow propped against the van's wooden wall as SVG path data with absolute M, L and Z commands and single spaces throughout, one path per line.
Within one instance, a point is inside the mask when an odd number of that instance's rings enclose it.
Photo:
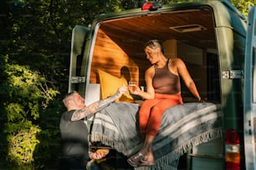
M 127 81 L 124 76 L 115 77 L 108 72 L 104 72 L 98 69 L 99 78 L 100 78 L 100 97 L 102 99 L 106 97 L 113 96 L 119 87 L 126 85 Z M 134 102 L 133 97 L 127 91 L 120 98 L 116 99 L 115 102 Z

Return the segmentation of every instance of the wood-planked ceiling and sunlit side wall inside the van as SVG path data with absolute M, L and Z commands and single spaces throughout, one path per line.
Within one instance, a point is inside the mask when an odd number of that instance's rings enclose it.
M 177 32 L 171 29 L 171 27 L 191 24 L 201 25 L 207 30 Z M 151 39 L 159 39 L 162 42 L 175 40 L 177 44 L 179 42 L 186 43 L 202 49 L 202 57 L 205 57 L 208 48 L 217 48 L 212 11 L 207 8 L 192 9 L 185 12 L 177 11 L 134 18 L 119 18 L 100 23 L 95 40 L 90 82 L 99 83 L 96 70 L 100 68 L 116 77 L 120 77 L 120 74 L 124 73 L 127 81 L 136 81 L 139 83 L 138 85 L 145 86 L 144 73 L 146 68 L 150 66 L 150 62 L 146 60 L 143 46 Z M 175 49 L 181 50 L 178 47 Z M 175 55 L 179 54 L 175 50 L 174 53 Z M 200 89 L 206 92 L 206 74 L 198 73 L 206 71 L 206 59 L 203 61 L 198 66 L 191 64 L 191 67 L 188 62 L 187 67 L 192 70 L 198 68 L 192 71 L 193 79 L 197 80 L 200 83 Z

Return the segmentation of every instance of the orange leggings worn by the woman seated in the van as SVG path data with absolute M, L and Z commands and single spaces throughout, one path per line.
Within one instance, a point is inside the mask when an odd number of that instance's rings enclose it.
M 141 137 L 146 135 L 156 136 L 161 125 L 161 116 L 167 108 L 182 104 L 181 94 L 155 94 L 154 99 L 142 103 L 139 112 Z

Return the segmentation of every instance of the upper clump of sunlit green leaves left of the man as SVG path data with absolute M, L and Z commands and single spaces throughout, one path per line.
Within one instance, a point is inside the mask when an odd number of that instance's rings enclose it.
M 6 74 L 8 79 L 5 84 L 8 85 L 8 114 L 19 115 L 10 116 L 8 121 L 26 119 L 32 117 L 36 120 L 39 117 L 39 108 L 48 106 L 49 100 L 52 100 L 58 93 L 49 88 L 46 79 L 38 72 L 29 70 L 29 67 L 18 64 L 6 64 Z

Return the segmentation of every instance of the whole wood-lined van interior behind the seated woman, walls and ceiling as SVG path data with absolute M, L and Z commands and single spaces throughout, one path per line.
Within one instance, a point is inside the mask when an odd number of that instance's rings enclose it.
M 97 74 L 100 68 L 145 87 L 144 73 L 150 62 L 143 47 L 147 41 L 158 39 L 165 48 L 166 57 L 181 57 L 186 63 L 202 98 L 220 102 L 218 46 L 211 8 L 151 12 L 97 24 L 91 52 L 90 84 L 100 83 Z M 182 97 L 184 102 L 196 100 L 184 85 Z

